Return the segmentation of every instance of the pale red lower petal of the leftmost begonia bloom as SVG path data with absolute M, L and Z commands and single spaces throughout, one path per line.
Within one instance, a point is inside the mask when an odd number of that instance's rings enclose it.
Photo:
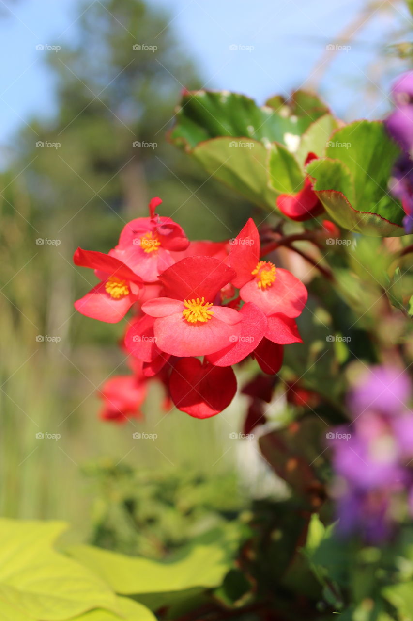
M 135 301 L 136 297 L 131 295 L 115 299 L 105 290 L 105 283 L 99 283 L 86 296 L 74 302 L 74 307 L 86 317 L 99 319 L 107 324 L 117 324 Z

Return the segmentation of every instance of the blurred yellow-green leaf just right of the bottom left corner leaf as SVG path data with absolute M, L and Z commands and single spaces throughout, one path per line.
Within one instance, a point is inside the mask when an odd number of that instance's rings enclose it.
M 193 546 L 183 558 L 170 563 L 86 545 L 74 546 L 68 552 L 120 594 L 173 592 L 193 587 L 209 589 L 221 584 L 229 568 L 228 553 L 222 542 Z

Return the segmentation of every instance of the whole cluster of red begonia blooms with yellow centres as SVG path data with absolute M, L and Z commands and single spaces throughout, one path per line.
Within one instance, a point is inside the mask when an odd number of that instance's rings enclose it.
M 277 373 L 283 345 L 301 342 L 295 318 L 306 288 L 261 258 L 253 220 L 233 240 L 190 242 L 176 222 L 155 213 L 161 202 L 152 199 L 149 217 L 131 220 L 108 254 L 74 253 L 74 263 L 100 280 L 75 303 L 79 312 L 109 323 L 134 312 L 122 343 L 133 375 L 101 389 L 104 419 L 140 416 L 151 378 L 178 409 L 208 418 L 236 393 L 233 365 L 252 356 L 264 373 Z

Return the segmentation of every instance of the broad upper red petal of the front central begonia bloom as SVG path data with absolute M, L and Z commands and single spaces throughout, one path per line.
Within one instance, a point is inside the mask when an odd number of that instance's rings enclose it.
M 166 297 L 178 300 L 205 297 L 213 302 L 220 289 L 235 276 L 234 270 L 212 256 L 187 256 L 159 276 Z

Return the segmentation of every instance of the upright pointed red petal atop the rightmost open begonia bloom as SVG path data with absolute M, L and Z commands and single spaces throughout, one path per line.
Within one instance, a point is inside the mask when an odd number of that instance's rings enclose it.
M 251 272 L 260 256 L 260 236 L 252 218 L 249 218 L 241 233 L 230 240 L 229 244 L 228 264 L 236 272 L 232 283 L 239 288 L 251 280 Z

